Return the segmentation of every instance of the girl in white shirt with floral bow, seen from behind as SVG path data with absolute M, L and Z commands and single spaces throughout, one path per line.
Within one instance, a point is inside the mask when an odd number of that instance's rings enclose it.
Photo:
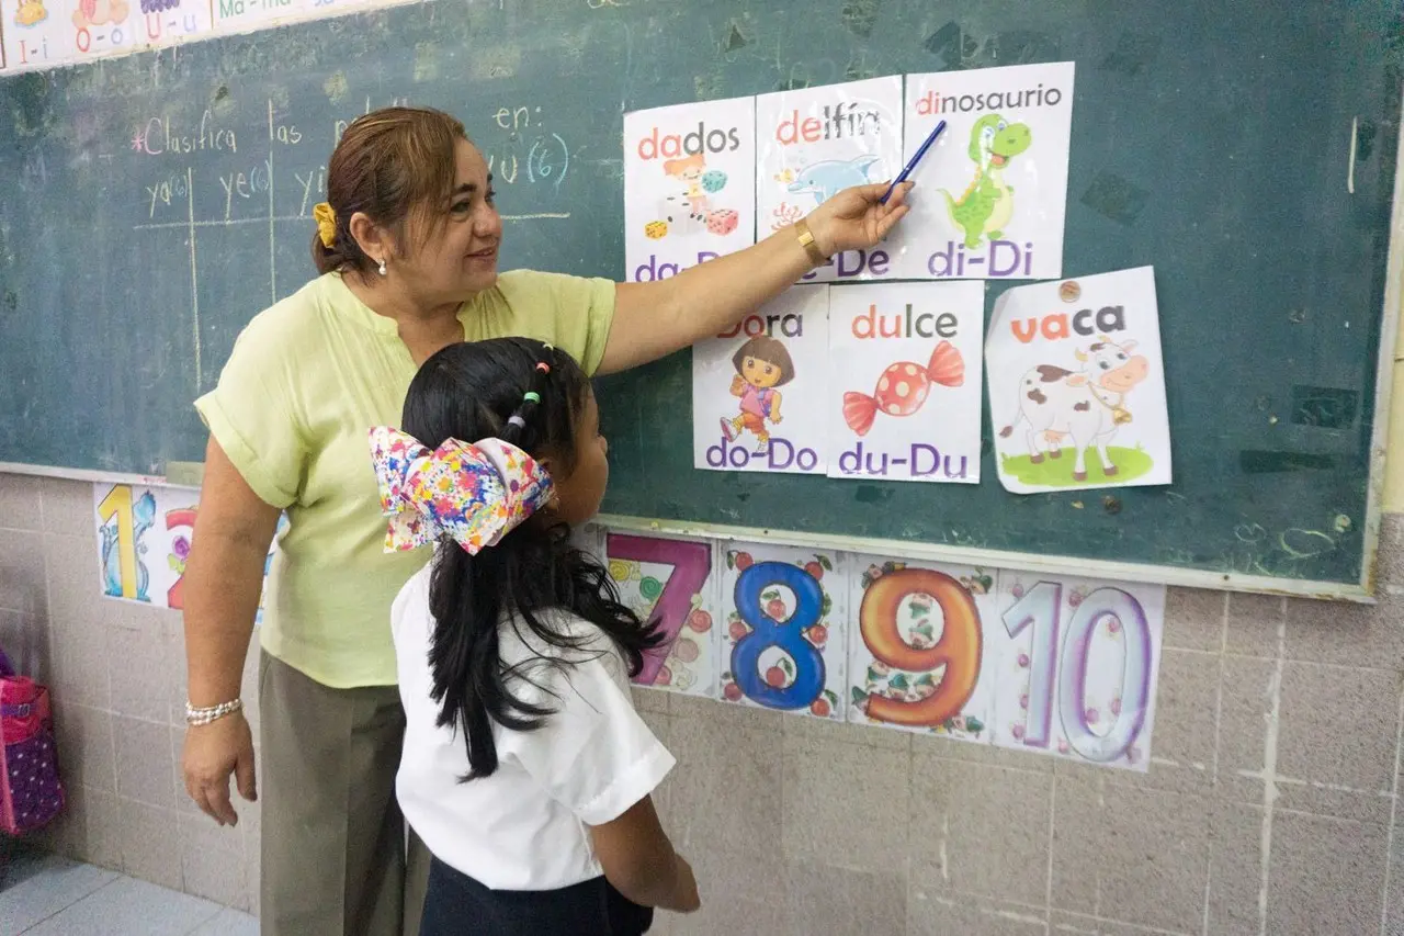
M 421 933 L 635 936 L 696 909 L 650 798 L 674 760 L 629 696 L 658 638 L 570 542 L 609 476 L 584 372 L 528 339 L 452 344 L 371 448 L 386 548 L 437 544 L 390 611 Z

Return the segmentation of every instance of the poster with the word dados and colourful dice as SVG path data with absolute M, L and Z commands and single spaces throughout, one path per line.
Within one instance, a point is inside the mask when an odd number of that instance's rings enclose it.
M 754 98 L 623 118 L 625 261 L 650 282 L 755 243 Z

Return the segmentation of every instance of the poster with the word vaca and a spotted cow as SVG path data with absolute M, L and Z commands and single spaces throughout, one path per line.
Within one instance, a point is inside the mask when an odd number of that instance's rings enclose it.
M 1008 490 L 1171 482 L 1151 267 L 1007 291 L 990 318 L 986 358 Z

